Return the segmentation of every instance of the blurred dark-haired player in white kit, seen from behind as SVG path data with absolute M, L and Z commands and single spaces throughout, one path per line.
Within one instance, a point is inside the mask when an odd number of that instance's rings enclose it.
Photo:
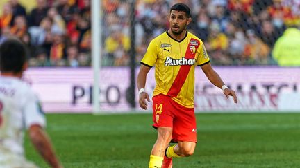
M 21 80 L 26 68 L 22 42 L 4 41 L 0 46 L 0 168 L 37 167 L 24 156 L 24 129 L 51 167 L 63 167 L 43 129 L 46 121 L 38 97 Z

